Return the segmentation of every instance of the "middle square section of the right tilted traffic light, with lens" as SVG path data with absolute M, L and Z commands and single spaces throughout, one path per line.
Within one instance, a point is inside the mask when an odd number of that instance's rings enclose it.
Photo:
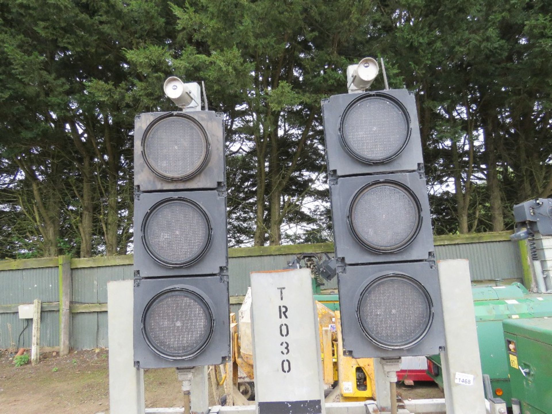
M 419 172 L 330 184 L 336 257 L 346 264 L 433 257 L 426 180 Z

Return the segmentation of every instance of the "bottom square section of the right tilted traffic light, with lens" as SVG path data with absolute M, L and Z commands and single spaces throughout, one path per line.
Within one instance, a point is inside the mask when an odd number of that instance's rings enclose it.
M 338 287 L 343 348 L 354 358 L 432 355 L 444 344 L 434 264 L 348 266 Z

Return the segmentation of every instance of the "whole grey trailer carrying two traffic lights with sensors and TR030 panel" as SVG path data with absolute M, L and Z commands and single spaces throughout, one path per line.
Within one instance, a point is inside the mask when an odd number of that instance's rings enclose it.
M 449 413 L 485 413 L 468 263 L 434 257 L 415 98 L 404 89 L 365 92 L 378 73 L 374 59 L 347 73 L 349 93 L 322 102 L 336 249 L 323 273 L 338 277 L 343 355 L 379 361 L 377 402 L 325 404 L 322 375 L 313 371 L 322 372 L 320 357 L 310 355 L 320 353 L 319 341 L 305 336 L 319 330 L 316 312 L 304 319 L 290 311 L 305 306 L 294 298 L 312 298 L 311 285 L 288 277 L 306 269 L 288 269 L 280 272 L 282 286 L 265 299 L 262 289 L 257 295 L 257 317 L 266 323 L 257 325 L 261 336 L 253 332 L 253 343 L 259 354 L 266 354 L 264 343 L 273 349 L 255 363 L 263 370 L 255 384 L 262 404 L 209 410 L 205 367 L 231 355 L 224 124 L 222 114 L 208 110 L 205 92 L 201 109 L 199 84 L 171 77 L 165 92 L 183 112 L 136 116 L 134 280 L 108 288 L 112 414 L 395 414 L 445 406 Z M 261 286 L 262 275 L 256 278 Z M 259 311 L 259 300 L 278 312 Z M 264 332 L 268 326 L 274 337 Z M 445 401 L 405 402 L 397 411 L 400 358 L 435 353 Z M 182 380 L 181 411 L 144 411 L 142 370 L 162 367 L 176 368 Z M 271 370 L 293 384 L 273 384 Z M 316 378 L 319 384 L 310 384 Z M 293 395 L 276 395 L 272 386 Z M 488 403 L 491 413 L 501 412 L 500 402 Z

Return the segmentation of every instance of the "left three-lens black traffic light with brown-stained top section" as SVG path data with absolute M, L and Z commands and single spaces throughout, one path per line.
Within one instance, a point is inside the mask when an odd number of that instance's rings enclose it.
M 140 114 L 134 155 L 134 363 L 221 364 L 230 355 L 222 114 Z

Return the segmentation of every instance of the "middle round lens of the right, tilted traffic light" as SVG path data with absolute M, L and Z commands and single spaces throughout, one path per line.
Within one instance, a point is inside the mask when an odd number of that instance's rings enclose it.
M 420 230 L 421 209 L 415 196 L 395 182 L 361 189 L 351 204 L 350 224 L 357 239 L 376 252 L 405 248 Z

